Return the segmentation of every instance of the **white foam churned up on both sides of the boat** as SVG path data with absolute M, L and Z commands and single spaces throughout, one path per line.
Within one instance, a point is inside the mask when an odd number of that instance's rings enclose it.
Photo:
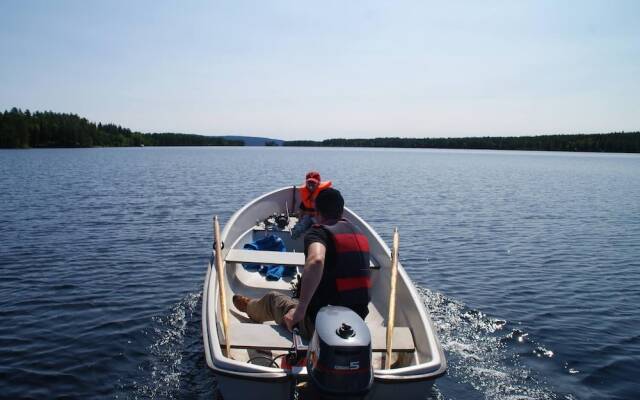
M 485 399 L 558 398 L 531 370 L 520 364 L 517 354 L 509 351 L 504 339 L 517 342 L 521 337 L 526 338 L 525 332 L 503 332 L 508 325 L 506 321 L 471 310 L 441 293 L 417 288 L 446 352 L 449 370 L 441 379 L 468 384 Z M 136 383 L 134 398 L 180 398 L 187 324 L 200 299 L 201 293 L 188 294 L 168 315 L 155 319 L 149 346 L 149 373 L 145 374 L 144 382 Z M 534 354 L 541 357 L 553 356 L 551 350 L 542 346 L 536 350 Z M 450 398 L 446 389 L 443 393 L 437 383 L 432 396 L 436 400 Z

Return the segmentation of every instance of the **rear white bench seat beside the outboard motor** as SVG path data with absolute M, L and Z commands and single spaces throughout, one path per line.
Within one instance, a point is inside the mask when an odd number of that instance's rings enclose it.
M 374 352 L 386 351 L 387 330 L 379 326 L 371 331 L 371 347 Z M 285 327 L 274 324 L 258 323 L 231 323 L 231 348 L 232 349 L 268 349 L 289 350 L 292 347 L 291 332 Z M 220 343 L 225 345 L 221 335 Z M 305 344 L 307 344 L 305 342 Z M 412 353 L 415 351 L 411 330 L 407 327 L 396 327 L 393 330 L 393 351 Z

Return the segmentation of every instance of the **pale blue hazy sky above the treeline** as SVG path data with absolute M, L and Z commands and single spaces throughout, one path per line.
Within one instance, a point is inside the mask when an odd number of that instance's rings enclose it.
M 281 139 L 640 129 L 640 1 L 0 1 L 0 110 Z

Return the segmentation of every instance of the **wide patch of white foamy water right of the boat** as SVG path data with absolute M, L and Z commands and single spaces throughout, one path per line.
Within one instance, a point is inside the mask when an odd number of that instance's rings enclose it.
M 429 289 L 418 286 L 418 293 L 431 314 L 447 356 L 449 373 L 443 379 L 469 384 L 486 399 L 557 398 L 550 388 L 535 379 L 532 371 L 520 365 L 517 354 L 508 351 L 503 342 L 505 335 L 500 335 L 506 321 L 470 310 L 461 302 Z M 550 350 L 544 349 L 545 352 Z M 446 393 L 442 395 L 447 397 Z

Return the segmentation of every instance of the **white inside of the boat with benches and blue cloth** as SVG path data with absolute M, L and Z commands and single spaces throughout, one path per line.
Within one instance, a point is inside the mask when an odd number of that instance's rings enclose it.
M 297 218 L 291 216 L 287 224 L 278 226 L 267 218 L 258 221 L 244 233 L 239 232 L 231 246 L 223 250 L 226 272 L 226 294 L 229 307 L 229 322 L 231 338 L 231 358 L 236 361 L 250 362 L 264 367 L 280 368 L 280 359 L 292 348 L 292 334 L 283 326 L 275 322 L 257 323 L 236 309 L 231 301 L 234 294 L 251 298 L 260 298 L 270 291 L 278 291 L 291 295 L 292 283 L 297 274 L 302 273 L 304 265 L 303 239 L 293 239 L 291 229 Z M 286 251 L 263 251 L 245 249 L 245 245 L 274 235 L 282 239 Z M 371 241 L 371 239 L 370 239 Z M 371 243 L 371 246 L 376 244 Z M 380 268 L 381 263 L 389 264 L 388 256 L 376 259 L 374 254 L 387 254 L 383 251 L 372 251 L 371 279 L 373 288 L 369 314 L 365 320 L 369 327 L 373 349 L 374 369 L 381 369 L 386 356 L 386 314 L 388 312 L 389 273 L 388 268 Z M 256 265 L 284 265 L 292 268 L 293 273 L 279 280 L 267 280 Z M 398 277 L 398 305 L 396 307 L 395 329 L 393 333 L 392 369 L 418 365 L 428 361 L 430 354 L 428 346 L 416 349 L 414 332 L 422 332 L 424 327 L 417 326 L 415 317 L 411 321 L 410 315 L 418 312 L 411 301 L 409 293 L 402 293 L 406 284 Z M 413 308 L 413 309 L 412 309 Z M 414 326 L 412 326 L 412 323 Z M 225 348 L 224 333 L 220 318 L 216 323 L 221 348 Z

